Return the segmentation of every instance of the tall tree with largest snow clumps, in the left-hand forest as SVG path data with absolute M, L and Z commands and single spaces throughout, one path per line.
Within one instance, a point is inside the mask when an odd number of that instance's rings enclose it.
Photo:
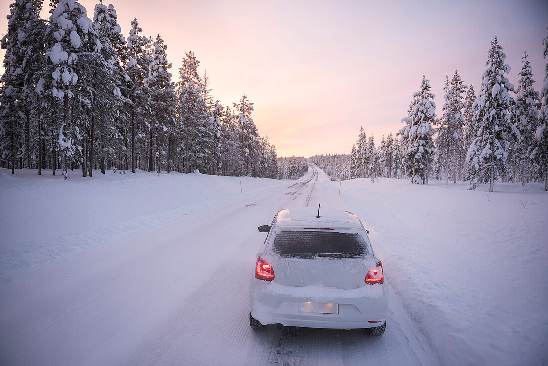
M 81 97 L 89 95 L 93 86 L 88 84 L 90 78 L 84 74 L 89 76 L 93 70 L 100 71 L 94 67 L 98 65 L 94 61 L 100 63 L 102 58 L 99 54 L 101 43 L 85 8 L 74 0 L 60 0 L 56 5 L 45 39 L 48 44 L 47 64 L 40 74 L 37 89 L 45 94 L 45 109 L 60 111 L 60 114 L 54 114 L 54 126 L 58 127 L 56 144 L 66 179 L 68 160 L 77 158 L 82 150 L 81 127 L 87 123 L 83 110 L 90 102 Z

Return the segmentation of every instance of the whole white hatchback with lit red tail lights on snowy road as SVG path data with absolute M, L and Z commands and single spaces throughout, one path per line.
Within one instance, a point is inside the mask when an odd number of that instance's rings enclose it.
M 356 215 L 281 210 L 259 231 L 268 235 L 249 282 L 251 328 L 281 323 L 384 333 L 383 266 Z

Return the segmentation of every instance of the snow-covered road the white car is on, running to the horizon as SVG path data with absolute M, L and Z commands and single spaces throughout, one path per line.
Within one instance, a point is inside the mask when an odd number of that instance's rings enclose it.
M 328 184 L 312 167 L 299 181 L 206 205 L 7 281 L 0 287 L 0 363 L 440 363 L 393 290 L 379 338 L 249 328 L 249 278 L 264 240 L 256 227 L 285 207 L 344 209 Z

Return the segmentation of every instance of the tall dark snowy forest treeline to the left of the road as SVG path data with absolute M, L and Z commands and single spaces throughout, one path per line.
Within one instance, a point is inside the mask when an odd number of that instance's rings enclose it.
M 134 19 L 128 37 L 112 5 L 93 18 L 75 0 L 10 5 L 2 39 L 0 165 L 134 172 L 165 170 L 285 177 L 276 148 L 259 136 L 244 94 L 221 105 L 187 52 L 172 82 L 167 46 Z M 290 172 L 289 175 L 293 175 Z

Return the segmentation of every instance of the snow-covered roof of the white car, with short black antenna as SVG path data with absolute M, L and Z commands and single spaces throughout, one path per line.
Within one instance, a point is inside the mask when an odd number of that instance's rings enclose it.
M 320 218 L 316 218 L 318 209 L 299 208 L 280 210 L 278 226 L 306 227 L 345 227 L 362 228 L 356 215 L 349 211 L 320 210 Z

